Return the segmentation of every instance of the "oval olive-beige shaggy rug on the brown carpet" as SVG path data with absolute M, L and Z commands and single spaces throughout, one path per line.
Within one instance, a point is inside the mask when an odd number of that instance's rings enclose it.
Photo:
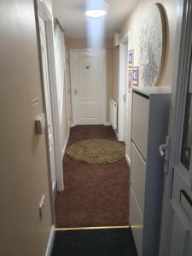
M 84 140 L 70 145 L 67 155 L 87 164 L 109 164 L 125 158 L 125 144 L 107 139 Z

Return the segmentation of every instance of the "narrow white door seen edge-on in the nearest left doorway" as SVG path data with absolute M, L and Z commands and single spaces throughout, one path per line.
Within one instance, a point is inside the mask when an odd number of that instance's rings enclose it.
M 46 108 L 46 120 L 48 125 L 48 137 L 49 137 L 49 165 L 51 171 L 52 189 L 55 189 L 56 177 L 55 177 L 55 151 L 54 151 L 54 137 L 53 137 L 53 122 L 52 122 L 52 110 L 50 102 L 50 90 L 49 90 L 49 70 L 47 59 L 47 47 L 46 47 L 46 32 L 44 20 L 39 17 L 39 29 L 40 29 L 40 43 L 41 43 L 41 55 L 43 65 L 44 76 L 44 94 L 45 94 L 45 108 Z

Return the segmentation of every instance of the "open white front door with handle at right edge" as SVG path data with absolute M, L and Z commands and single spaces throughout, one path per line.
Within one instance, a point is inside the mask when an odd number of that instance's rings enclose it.
M 160 256 L 192 255 L 192 3 L 179 1 L 177 9 L 171 143 L 162 145 L 166 146 L 166 186 Z

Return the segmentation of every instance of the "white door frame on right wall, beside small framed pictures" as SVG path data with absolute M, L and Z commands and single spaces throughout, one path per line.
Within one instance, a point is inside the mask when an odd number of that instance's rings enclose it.
M 119 44 L 119 104 L 118 104 L 118 140 L 125 142 L 126 108 L 128 91 L 125 91 L 126 77 L 126 52 L 128 50 L 129 33 L 125 35 Z M 127 49 L 126 49 L 127 47 Z M 127 85 L 128 88 L 128 85 Z M 125 96 L 125 101 L 124 101 Z

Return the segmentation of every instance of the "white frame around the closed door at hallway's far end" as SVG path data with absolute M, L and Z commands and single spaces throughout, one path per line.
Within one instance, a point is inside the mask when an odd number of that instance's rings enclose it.
M 102 102 L 103 102 L 103 111 L 102 111 L 102 123 L 103 125 L 107 125 L 107 74 L 106 74 L 106 63 L 107 63 L 107 50 L 106 49 L 70 49 L 69 50 L 69 56 L 70 56 L 70 66 L 72 66 L 72 56 L 77 53 L 81 52 L 102 52 L 104 54 L 104 70 L 103 70 L 103 75 L 104 75 L 104 81 L 103 81 L 103 93 L 102 93 Z M 77 125 L 76 118 L 75 118 L 75 113 L 74 113 L 74 94 L 73 94 L 73 77 L 71 73 L 71 92 L 72 92 L 72 113 L 73 113 L 73 123 L 71 126 Z

